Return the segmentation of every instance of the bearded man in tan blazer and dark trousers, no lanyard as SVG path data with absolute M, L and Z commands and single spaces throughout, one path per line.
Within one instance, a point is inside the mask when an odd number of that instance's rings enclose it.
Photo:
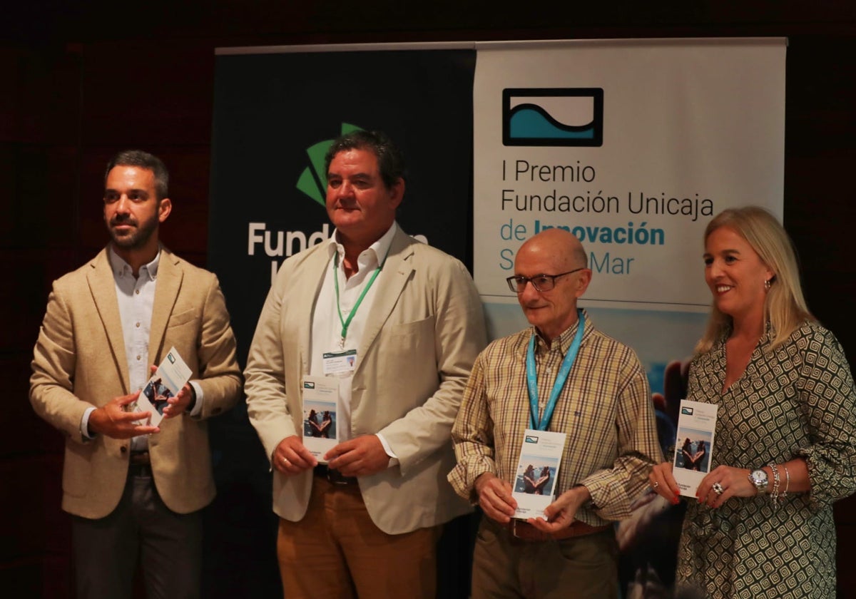
M 104 251 L 56 280 L 30 400 L 66 438 L 78 595 L 199 596 L 201 514 L 214 497 L 205 419 L 235 405 L 241 371 L 217 277 L 158 243 L 171 211 L 163 163 L 125 151 L 105 175 Z M 193 371 L 158 427 L 129 404 L 170 347 Z

